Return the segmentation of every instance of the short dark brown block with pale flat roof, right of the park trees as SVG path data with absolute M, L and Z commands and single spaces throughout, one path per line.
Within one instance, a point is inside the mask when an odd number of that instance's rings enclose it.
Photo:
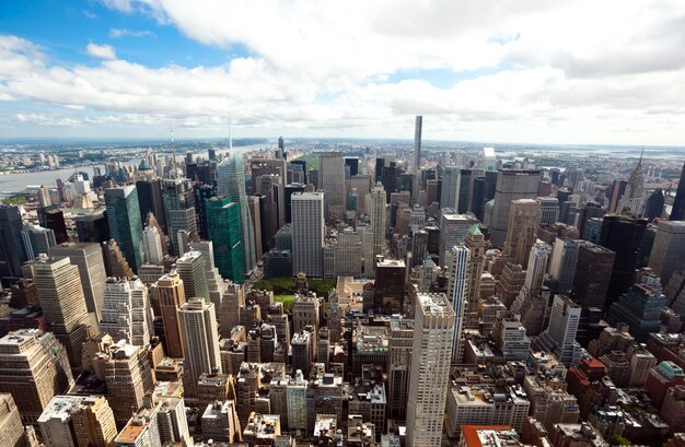
M 373 307 L 380 314 L 399 314 L 404 305 L 405 263 L 381 259 L 375 266 L 375 299 Z

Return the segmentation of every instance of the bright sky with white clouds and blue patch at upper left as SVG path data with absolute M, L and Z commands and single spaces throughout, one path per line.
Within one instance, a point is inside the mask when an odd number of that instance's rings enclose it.
M 0 138 L 685 145 L 682 0 L 2 0 Z

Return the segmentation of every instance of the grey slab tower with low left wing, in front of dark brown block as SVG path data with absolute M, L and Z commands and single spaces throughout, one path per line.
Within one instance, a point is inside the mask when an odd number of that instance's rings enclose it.
M 556 295 L 549 326 L 535 339 L 534 349 L 552 352 L 566 367 L 580 363 L 582 348 L 576 341 L 581 307 L 566 295 Z

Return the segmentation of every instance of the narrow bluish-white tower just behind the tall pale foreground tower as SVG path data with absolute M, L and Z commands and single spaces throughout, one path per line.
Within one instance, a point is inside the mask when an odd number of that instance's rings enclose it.
M 452 363 L 462 363 L 464 356 L 464 313 L 467 304 L 471 270 L 471 251 L 464 245 L 452 246 L 445 256 L 448 271 L 448 298 L 454 309 L 454 340 L 452 341 Z

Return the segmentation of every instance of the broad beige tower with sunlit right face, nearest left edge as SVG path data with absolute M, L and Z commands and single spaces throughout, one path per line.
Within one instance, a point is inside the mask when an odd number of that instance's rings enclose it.
M 79 268 L 69 258 L 43 256 L 35 266 L 34 282 L 43 315 L 55 337 L 65 345 L 69 363 L 81 368 L 81 345 L 89 336 L 90 318 Z

